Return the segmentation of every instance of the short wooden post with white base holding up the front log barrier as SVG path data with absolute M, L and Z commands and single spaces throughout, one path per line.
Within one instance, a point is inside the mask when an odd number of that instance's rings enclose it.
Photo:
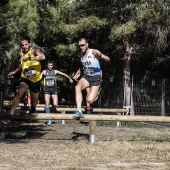
M 89 142 L 94 143 L 96 141 L 96 120 L 91 120 L 89 124 Z

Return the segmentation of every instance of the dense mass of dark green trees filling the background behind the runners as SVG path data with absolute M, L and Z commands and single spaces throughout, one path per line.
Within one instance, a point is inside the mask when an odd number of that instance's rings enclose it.
M 123 78 L 128 89 L 132 75 L 136 80 L 169 76 L 169 9 L 168 0 L 3 0 L 1 68 L 4 59 L 5 73 L 18 65 L 19 41 L 28 35 L 47 60 L 56 62 L 56 69 L 71 75 L 78 67 L 76 42 L 86 37 L 91 48 L 111 58 L 110 63 L 101 61 L 101 68 L 104 85 L 112 89 L 107 97 L 115 98 Z M 45 68 L 46 61 L 42 65 Z

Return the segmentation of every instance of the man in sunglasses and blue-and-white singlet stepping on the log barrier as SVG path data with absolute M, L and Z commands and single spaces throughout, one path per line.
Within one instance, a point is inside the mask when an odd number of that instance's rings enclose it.
M 82 106 L 82 90 L 89 88 L 89 93 L 86 96 L 86 101 L 89 104 L 95 102 L 95 99 L 98 95 L 99 86 L 101 83 L 101 70 L 99 58 L 110 61 L 110 58 L 104 54 L 102 54 L 97 49 L 90 49 L 88 47 L 88 41 L 85 38 L 81 38 L 78 41 L 78 46 L 80 48 L 80 60 L 83 65 L 83 76 L 78 81 L 75 86 L 75 99 L 76 99 L 76 111 L 74 113 L 75 118 L 84 117 L 81 106 Z M 76 72 L 73 77 L 74 80 L 77 81 L 81 74 L 80 69 Z

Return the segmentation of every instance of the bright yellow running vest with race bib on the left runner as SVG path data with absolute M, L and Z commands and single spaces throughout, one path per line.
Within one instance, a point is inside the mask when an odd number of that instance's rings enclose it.
M 32 48 L 25 54 L 21 53 L 21 58 L 23 57 L 31 57 L 34 58 L 34 54 L 32 53 Z M 41 80 L 41 63 L 37 60 L 28 60 L 28 61 L 21 61 L 22 65 L 22 73 L 21 77 L 26 78 L 32 82 L 37 82 Z

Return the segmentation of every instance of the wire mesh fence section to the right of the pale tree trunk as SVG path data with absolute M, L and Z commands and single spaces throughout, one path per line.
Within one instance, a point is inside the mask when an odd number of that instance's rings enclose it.
M 133 107 L 136 115 L 170 115 L 168 79 L 134 82 Z

